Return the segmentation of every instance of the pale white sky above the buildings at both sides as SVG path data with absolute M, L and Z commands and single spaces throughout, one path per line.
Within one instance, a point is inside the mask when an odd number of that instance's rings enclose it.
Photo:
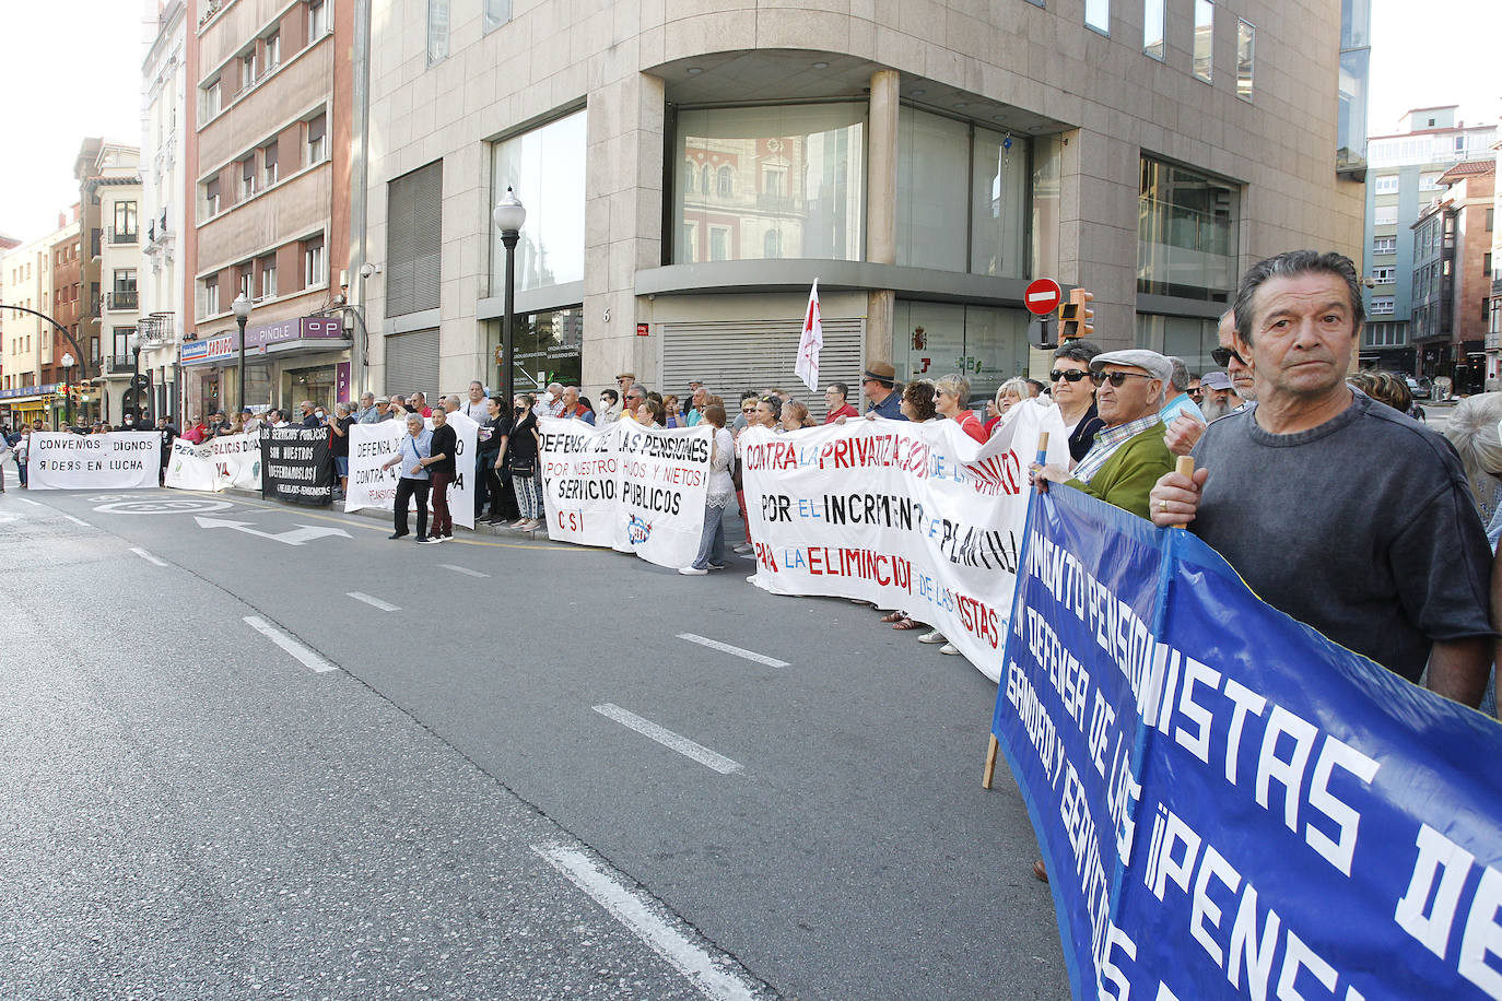
M 1458 104 L 1466 122 L 1497 120 L 1502 74 L 1488 48 L 1502 38 L 1499 0 L 1371 2 L 1371 135 L 1394 132 L 1409 108 L 1433 105 Z M 72 171 L 84 137 L 141 141 L 144 5 L 0 0 L 0 6 L 8 42 L 0 62 L 8 95 L 0 233 L 33 240 L 51 233 L 57 213 L 78 200 Z

